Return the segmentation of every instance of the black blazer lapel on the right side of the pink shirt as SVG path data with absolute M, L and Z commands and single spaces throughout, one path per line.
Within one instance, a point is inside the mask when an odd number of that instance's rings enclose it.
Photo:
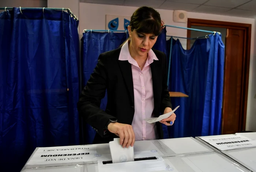
M 153 63 L 150 64 L 151 68 L 151 75 L 152 75 L 152 83 L 153 83 L 153 93 L 154 93 L 154 104 L 157 105 L 159 104 L 158 102 L 161 100 L 161 85 L 162 85 L 162 80 L 161 80 L 161 64 L 159 60 L 154 60 Z M 155 114 L 159 116 L 159 114 Z

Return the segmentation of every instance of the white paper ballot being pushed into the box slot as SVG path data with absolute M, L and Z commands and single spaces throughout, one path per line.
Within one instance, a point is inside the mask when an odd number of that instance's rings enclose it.
M 133 147 L 123 148 L 120 145 L 120 138 L 114 138 L 114 141 L 109 142 L 112 163 L 122 163 L 134 161 Z

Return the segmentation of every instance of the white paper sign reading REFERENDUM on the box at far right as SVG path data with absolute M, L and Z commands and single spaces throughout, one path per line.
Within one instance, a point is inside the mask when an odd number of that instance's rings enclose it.
M 205 136 L 200 137 L 200 139 L 206 141 L 220 151 L 256 147 L 256 140 L 241 135 Z

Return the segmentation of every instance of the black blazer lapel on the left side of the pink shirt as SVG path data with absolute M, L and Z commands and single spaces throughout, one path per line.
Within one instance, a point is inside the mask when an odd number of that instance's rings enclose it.
M 132 66 L 128 62 L 128 60 L 121 61 L 118 60 L 121 72 L 124 77 L 124 81 L 126 83 L 127 89 L 131 96 L 132 105 L 134 107 L 134 92 L 133 92 L 133 79 L 132 79 Z

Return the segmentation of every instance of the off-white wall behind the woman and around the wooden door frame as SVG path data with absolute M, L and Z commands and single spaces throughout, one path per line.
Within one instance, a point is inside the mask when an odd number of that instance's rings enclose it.
M 108 15 L 122 15 L 131 16 L 137 7 L 125 7 L 116 5 L 103 5 L 103 4 L 90 4 L 80 3 L 79 4 L 79 35 L 82 36 L 83 29 L 105 29 L 105 16 Z M 176 25 L 181 27 L 187 27 L 187 23 L 174 23 L 173 11 L 158 9 L 161 14 L 162 20 L 167 25 Z M 222 15 L 211 15 L 205 13 L 194 13 L 188 12 L 188 18 L 194 19 L 205 19 L 205 20 L 218 20 L 218 21 L 229 21 L 236 23 L 247 23 L 252 24 L 252 39 L 251 39 L 251 61 L 249 69 L 249 88 L 248 88 L 248 105 L 247 105 L 247 120 L 246 130 L 256 131 L 256 21 L 255 19 L 242 18 L 242 17 L 231 17 Z M 207 33 L 206 33 L 207 34 Z M 186 29 L 178 29 L 167 27 L 167 35 L 187 37 Z M 181 39 L 181 43 L 186 47 L 187 40 Z

